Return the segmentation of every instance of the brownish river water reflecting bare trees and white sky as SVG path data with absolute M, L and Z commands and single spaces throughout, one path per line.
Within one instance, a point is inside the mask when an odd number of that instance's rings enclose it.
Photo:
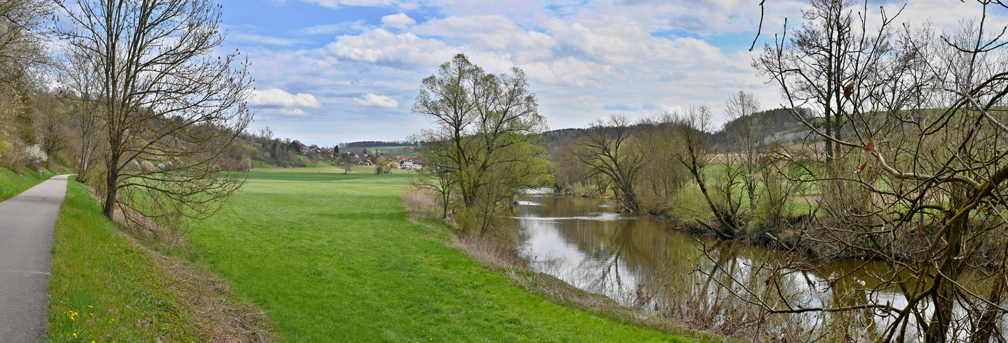
M 753 266 L 781 256 L 781 252 L 765 247 L 729 245 L 683 233 L 672 223 L 653 217 L 617 213 L 616 205 L 601 199 L 532 194 L 528 200 L 519 201 L 514 220 L 518 253 L 533 270 L 655 315 L 667 314 L 671 308 L 662 299 L 682 302 L 681 298 L 655 297 L 662 286 L 690 280 L 683 284 L 698 285 L 686 291 L 694 296 L 730 297 L 719 292 L 716 285 L 692 282 L 700 280 L 696 271 L 733 274 L 745 280 Z M 710 247 L 710 256 L 702 251 L 704 245 Z M 718 261 L 724 269 L 716 268 L 712 261 Z M 867 268 L 850 274 L 865 264 Z M 890 303 L 901 308 L 906 304 L 901 295 L 872 291 L 879 276 L 888 273 L 883 264 L 840 261 L 816 272 L 790 274 L 785 283 L 790 288 L 788 298 L 796 306 Z M 825 282 L 831 275 L 848 274 L 843 283 Z M 864 314 L 874 316 L 867 311 Z M 807 321 L 803 324 L 807 326 L 822 326 L 830 320 L 823 314 L 805 316 L 802 320 Z M 874 316 L 867 323 L 874 322 L 881 328 L 889 320 Z

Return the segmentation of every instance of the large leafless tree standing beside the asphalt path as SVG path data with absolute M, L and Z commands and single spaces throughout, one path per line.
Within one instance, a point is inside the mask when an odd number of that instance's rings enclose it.
M 251 78 L 211 0 L 59 1 L 65 53 L 97 71 L 103 211 L 204 217 L 244 183 L 226 154 L 252 120 Z M 71 51 L 73 53 L 71 53 Z M 88 95 L 82 95 L 88 97 Z M 153 166 L 153 167 L 150 167 Z

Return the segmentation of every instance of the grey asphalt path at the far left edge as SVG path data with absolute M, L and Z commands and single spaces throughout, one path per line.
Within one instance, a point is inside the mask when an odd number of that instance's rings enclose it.
M 68 176 L 0 201 L 0 341 L 38 342 L 45 334 L 52 233 Z

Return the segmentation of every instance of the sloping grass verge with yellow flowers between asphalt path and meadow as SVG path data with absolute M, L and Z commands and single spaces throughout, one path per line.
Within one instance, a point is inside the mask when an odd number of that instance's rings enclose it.
M 268 316 L 227 283 L 119 231 L 71 181 L 49 280 L 49 342 L 266 341 Z

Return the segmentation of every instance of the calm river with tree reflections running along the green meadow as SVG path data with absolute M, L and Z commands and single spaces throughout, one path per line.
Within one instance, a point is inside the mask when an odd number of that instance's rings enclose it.
M 533 191 L 518 201 L 513 217 L 517 253 L 531 270 L 579 289 L 690 329 L 746 340 L 871 341 L 894 318 L 877 309 L 768 315 L 757 305 L 761 300 L 775 308 L 779 302 L 803 308 L 906 305 L 895 286 L 883 284 L 880 276 L 892 273 L 885 264 L 842 260 L 774 272 L 766 266 L 795 255 L 684 233 L 672 222 L 618 208 L 604 199 Z M 771 277 L 783 287 L 770 287 Z M 955 317 L 965 329 L 971 316 L 958 306 Z M 916 321 L 906 322 L 904 340 L 920 340 Z

